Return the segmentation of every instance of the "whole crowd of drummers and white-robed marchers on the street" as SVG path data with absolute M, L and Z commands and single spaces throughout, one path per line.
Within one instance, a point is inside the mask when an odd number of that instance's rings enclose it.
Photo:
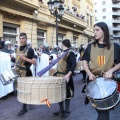
M 110 41 L 109 29 L 106 23 L 99 22 L 94 25 L 94 37 L 93 42 L 87 46 L 81 45 L 78 49 L 73 48 L 68 39 L 63 40 L 62 46 L 59 47 L 54 45 L 50 49 L 46 43 L 43 47 L 33 49 L 32 42 L 27 40 L 26 33 L 21 33 L 19 36 L 20 46 L 17 46 L 16 51 L 12 49 L 12 43 L 9 40 L 3 41 L 2 38 L 0 41 L 0 57 L 3 57 L 0 58 L 0 74 L 4 70 L 14 68 L 20 77 L 37 76 L 37 72 L 43 70 L 62 53 L 67 52 L 67 55 L 53 66 L 57 71 L 55 76 L 62 76 L 66 80 L 66 99 L 59 102 L 59 110 L 53 114 L 67 118 L 70 114 L 70 101 L 74 96 L 73 75 L 75 74 L 77 61 L 83 61 L 84 70 L 81 71 L 83 79 L 85 80 L 86 74 L 88 75 L 82 92 L 85 92 L 86 86 L 96 80 L 97 77 L 110 79 L 113 77 L 113 72 L 120 69 L 120 46 Z M 64 71 L 62 71 L 63 69 Z M 49 76 L 49 72 L 47 71 L 43 76 Z M 12 91 L 17 91 L 16 82 L 7 86 L 3 86 L 0 82 L 0 98 L 5 97 Z M 89 99 L 86 96 L 85 104 L 88 103 Z M 18 112 L 18 116 L 27 112 L 26 107 L 27 104 L 24 103 L 22 109 Z M 100 110 L 97 107 L 95 109 L 98 112 L 97 120 L 109 120 L 110 109 Z

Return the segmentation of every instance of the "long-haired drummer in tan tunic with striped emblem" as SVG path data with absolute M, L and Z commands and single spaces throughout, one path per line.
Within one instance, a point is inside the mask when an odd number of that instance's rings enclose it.
M 94 42 L 88 45 L 82 58 L 88 82 L 96 80 L 96 76 L 108 78 L 111 74 L 109 70 L 120 60 L 119 45 L 110 41 L 106 23 L 99 22 L 94 25 L 94 37 Z M 97 112 L 97 120 L 109 120 L 109 110 L 97 110 Z

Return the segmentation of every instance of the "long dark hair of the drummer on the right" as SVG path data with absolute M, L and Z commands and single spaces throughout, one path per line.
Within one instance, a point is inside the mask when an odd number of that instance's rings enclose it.
M 99 22 L 99 23 L 96 23 L 94 27 L 95 26 L 98 26 L 103 30 L 104 32 L 103 42 L 105 43 L 106 48 L 109 50 L 110 49 L 110 36 L 109 36 L 109 29 L 108 29 L 107 24 L 104 22 Z M 95 41 L 93 42 L 94 46 L 96 46 L 97 43 L 98 43 L 98 40 L 95 39 Z

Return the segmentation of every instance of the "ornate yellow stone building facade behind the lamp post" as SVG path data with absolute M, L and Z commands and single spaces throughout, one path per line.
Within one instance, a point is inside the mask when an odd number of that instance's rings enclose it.
M 0 37 L 19 43 L 19 34 L 27 33 L 34 47 L 56 44 L 55 17 L 50 14 L 48 0 L 1 0 Z M 58 23 L 58 45 L 70 39 L 74 47 L 93 38 L 93 0 L 65 0 L 65 14 Z M 68 7 L 69 6 L 69 7 Z M 72 11 L 75 7 L 77 11 Z M 68 8 L 70 10 L 68 10 Z M 77 16 L 79 14 L 79 17 Z

